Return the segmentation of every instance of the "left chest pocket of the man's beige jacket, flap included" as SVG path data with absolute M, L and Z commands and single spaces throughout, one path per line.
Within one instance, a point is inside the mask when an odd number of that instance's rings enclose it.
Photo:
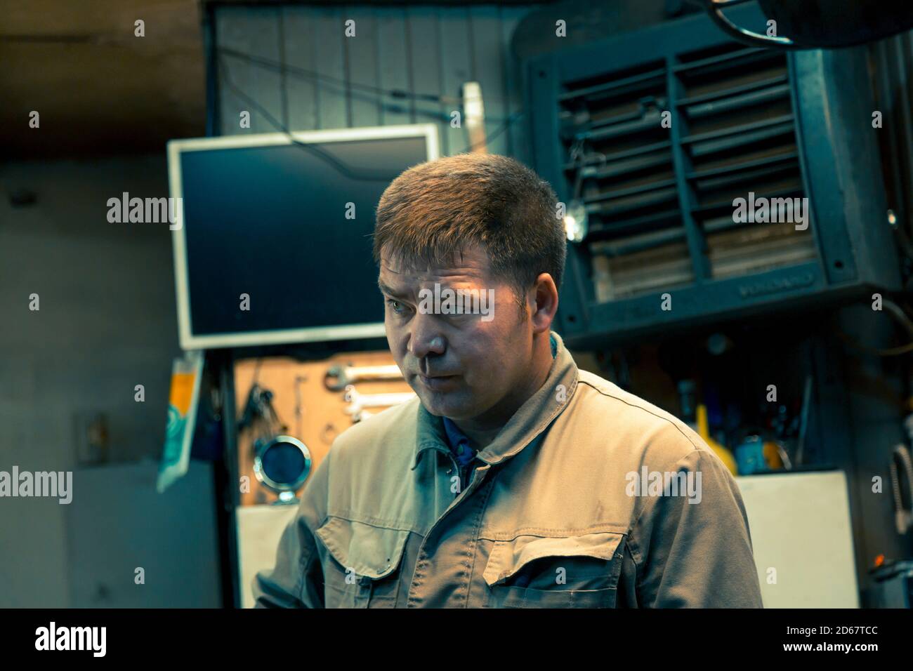
M 327 608 L 394 608 L 407 529 L 331 517 L 316 530 L 330 553 L 323 564 Z

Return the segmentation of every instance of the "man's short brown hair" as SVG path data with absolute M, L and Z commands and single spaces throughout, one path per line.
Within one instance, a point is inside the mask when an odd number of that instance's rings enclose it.
M 460 153 L 400 174 L 377 205 L 374 260 L 449 262 L 477 244 L 519 303 L 540 273 L 561 287 L 564 225 L 549 183 L 507 156 Z

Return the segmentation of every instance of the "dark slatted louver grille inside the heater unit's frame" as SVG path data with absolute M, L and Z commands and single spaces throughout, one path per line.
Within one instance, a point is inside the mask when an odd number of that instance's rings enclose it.
M 727 44 L 565 85 L 563 169 L 596 302 L 691 285 L 696 266 L 721 279 L 815 257 L 810 226 L 733 218 L 736 198 L 806 195 L 789 77 L 784 54 Z

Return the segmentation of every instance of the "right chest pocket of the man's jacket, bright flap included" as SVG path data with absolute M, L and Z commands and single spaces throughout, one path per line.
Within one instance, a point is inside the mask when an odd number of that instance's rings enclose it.
M 489 608 L 614 608 L 624 534 L 496 540 L 482 577 Z

